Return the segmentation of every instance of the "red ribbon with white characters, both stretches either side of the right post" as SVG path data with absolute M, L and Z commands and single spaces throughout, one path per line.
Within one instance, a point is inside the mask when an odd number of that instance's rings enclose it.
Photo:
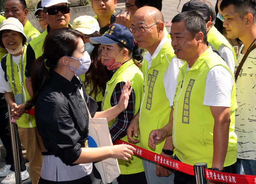
M 148 160 L 151 160 L 163 166 L 181 171 L 183 173 L 195 175 L 194 167 L 191 165 L 185 164 L 177 160 L 173 160 L 168 157 L 164 157 L 163 155 L 159 155 L 152 151 L 148 151 L 146 149 L 140 148 L 139 146 L 135 146 L 133 144 L 127 143 L 120 139 L 116 140 L 115 144 L 131 145 L 136 149 L 136 151 L 133 151 L 135 155 L 138 155 L 142 158 L 146 158 Z M 256 184 L 256 176 L 224 173 L 224 172 L 212 171 L 210 169 L 205 169 L 204 171 L 205 171 L 205 178 L 208 180 L 220 181 L 220 182 L 231 183 L 231 184 Z

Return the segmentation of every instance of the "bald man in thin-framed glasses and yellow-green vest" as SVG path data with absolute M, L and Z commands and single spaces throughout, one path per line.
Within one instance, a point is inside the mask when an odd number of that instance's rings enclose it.
M 153 150 L 148 146 L 148 135 L 153 129 L 163 127 L 169 121 L 170 106 L 173 103 L 176 87 L 175 79 L 183 62 L 174 55 L 171 39 L 168 39 L 164 33 L 163 15 L 158 9 L 150 6 L 138 9 L 133 15 L 130 31 L 139 47 L 148 52 L 142 64 L 144 76 L 142 104 L 140 112 L 134 116 L 127 129 L 128 140 L 131 143 L 138 143 L 139 140 L 133 139 L 132 136 L 138 137 L 138 129 L 140 129 L 142 148 L 172 158 L 173 147 L 172 144 L 168 145 L 169 141 L 166 141 L 166 145 L 164 142 L 158 144 Z M 142 159 L 142 162 L 148 184 L 173 183 L 174 174 L 170 169 L 147 159 Z M 165 177 L 160 177 L 161 175 Z

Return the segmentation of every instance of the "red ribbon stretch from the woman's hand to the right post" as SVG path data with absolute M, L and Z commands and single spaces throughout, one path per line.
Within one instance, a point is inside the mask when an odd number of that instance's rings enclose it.
M 182 162 L 177 161 L 177 160 L 173 160 L 173 159 L 165 157 L 163 155 L 159 155 L 159 154 L 154 153 L 152 151 L 145 150 L 143 148 L 140 148 L 139 146 L 135 146 L 133 144 L 127 143 L 127 142 L 122 141 L 120 139 L 116 140 L 115 144 L 131 145 L 136 149 L 136 151 L 133 151 L 133 153 L 135 155 L 146 158 L 148 160 L 151 160 L 151 161 L 156 162 L 158 164 L 161 164 L 163 166 L 170 167 L 172 169 L 181 171 L 183 173 L 187 173 L 187 174 L 190 174 L 190 175 L 195 175 L 194 174 L 194 168 L 191 165 L 182 163 Z

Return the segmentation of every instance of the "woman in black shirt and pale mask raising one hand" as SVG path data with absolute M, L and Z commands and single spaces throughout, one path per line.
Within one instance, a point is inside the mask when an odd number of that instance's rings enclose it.
M 44 41 L 44 54 L 32 68 L 34 96 L 28 108 L 35 104 L 37 129 L 47 150 L 39 183 L 91 183 L 93 161 L 108 157 L 128 160 L 135 150 L 128 145 L 81 148 L 80 143 L 88 135 L 89 120 L 84 100 L 92 117 L 106 117 L 111 121 L 127 107 L 132 90 L 128 81 L 119 104 L 96 113 L 96 101 L 84 89 L 82 98 L 79 89 L 83 86 L 76 77 L 86 72 L 91 63 L 82 38 L 82 33 L 71 28 L 49 32 Z

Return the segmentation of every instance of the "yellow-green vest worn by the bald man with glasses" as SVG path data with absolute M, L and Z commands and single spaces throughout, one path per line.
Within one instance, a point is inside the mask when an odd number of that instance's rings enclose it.
M 148 146 L 148 135 L 152 130 L 163 128 L 170 117 L 171 108 L 164 89 L 164 72 L 174 57 L 171 39 L 164 43 L 159 54 L 153 59 L 148 69 L 148 62 L 143 61 L 144 94 L 140 107 L 140 147 L 160 154 L 164 141 L 156 144 L 153 150 Z

